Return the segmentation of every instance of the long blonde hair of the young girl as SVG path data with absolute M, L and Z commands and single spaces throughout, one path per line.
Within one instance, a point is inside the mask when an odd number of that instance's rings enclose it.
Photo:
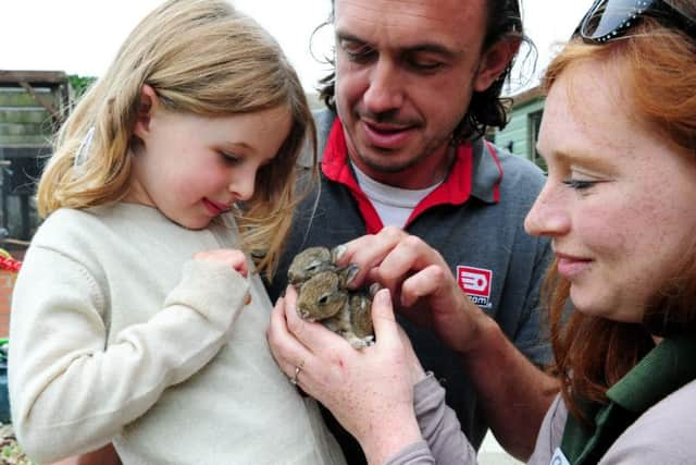
M 224 0 L 170 0 L 136 26 L 59 131 L 38 185 L 39 215 L 124 198 L 144 84 L 167 109 L 202 117 L 288 109 L 290 133 L 273 162 L 260 169 L 253 198 L 235 211 L 245 248 L 259 270 L 272 274 L 290 228 L 295 163 L 304 140 L 316 167 L 315 130 L 278 44 Z M 75 163 L 88 133 L 87 156 Z

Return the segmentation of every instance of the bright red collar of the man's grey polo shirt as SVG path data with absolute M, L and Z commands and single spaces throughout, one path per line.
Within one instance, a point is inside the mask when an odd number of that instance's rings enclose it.
M 498 163 L 495 150 L 489 146 L 492 155 L 496 163 Z M 500 168 L 498 163 L 498 168 Z M 358 203 L 358 208 L 365 220 L 368 234 L 375 234 L 384 227 L 377 211 L 370 203 L 368 196 L 362 192 L 356 176 L 353 175 L 350 164 L 348 163 L 348 147 L 344 127 L 338 118 L 335 119 L 331 129 L 324 155 L 322 157 L 322 172 L 330 180 L 340 183 L 348 187 L 353 198 Z M 502 170 L 500 170 L 502 174 Z M 408 227 L 415 218 L 428 208 L 437 205 L 461 205 L 465 203 L 471 195 L 472 185 L 472 147 L 471 143 L 463 144 L 457 149 L 455 162 L 445 181 L 431 192 L 421 203 L 413 209 L 411 216 L 406 222 Z M 498 189 L 496 185 L 495 201 L 498 201 Z

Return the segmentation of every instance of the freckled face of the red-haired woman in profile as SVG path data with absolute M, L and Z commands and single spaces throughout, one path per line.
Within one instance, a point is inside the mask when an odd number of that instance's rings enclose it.
M 579 63 L 551 87 L 549 175 L 524 225 L 551 238 L 580 311 L 638 322 L 696 231 L 696 161 L 632 118 L 619 66 Z

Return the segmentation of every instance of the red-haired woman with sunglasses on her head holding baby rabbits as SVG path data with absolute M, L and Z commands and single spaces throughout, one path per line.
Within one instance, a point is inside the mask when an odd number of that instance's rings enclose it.
M 546 296 L 561 390 L 530 463 L 696 463 L 696 2 L 596 1 L 545 86 L 549 175 L 525 228 L 556 253 Z M 281 368 L 371 463 L 475 463 L 387 295 L 373 306 L 376 344 L 349 353 L 294 315 L 289 292 L 269 331 Z

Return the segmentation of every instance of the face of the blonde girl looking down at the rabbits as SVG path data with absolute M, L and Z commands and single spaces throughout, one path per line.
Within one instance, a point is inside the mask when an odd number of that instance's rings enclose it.
M 259 168 L 272 162 L 290 131 L 284 107 L 204 118 L 169 111 L 157 96 L 144 100 L 151 105 L 136 125 L 144 148 L 133 158 L 126 200 L 157 207 L 189 229 L 251 198 Z

